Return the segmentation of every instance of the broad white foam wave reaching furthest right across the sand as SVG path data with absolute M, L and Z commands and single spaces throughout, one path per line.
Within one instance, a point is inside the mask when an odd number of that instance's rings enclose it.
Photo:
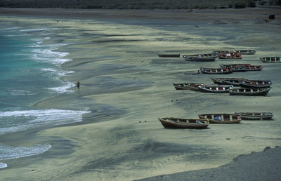
M 11 112 L 0 112 L 0 119 L 13 119 L 21 116 L 25 123 L 19 123 L 6 128 L 0 128 L 0 135 L 15 133 L 30 128 L 41 126 L 62 125 L 82 121 L 82 114 L 86 111 L 72 111 L 63 109 L 39 109 L 39 110 L 19 110 Z

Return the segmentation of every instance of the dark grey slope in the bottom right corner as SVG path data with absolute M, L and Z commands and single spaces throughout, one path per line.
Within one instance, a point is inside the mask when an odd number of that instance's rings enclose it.
M 239 155 L 230 163 L 217 168 L 158 175 L 140 180 L 279 180 L 280 152 L 281 147 L 266 147 L 261 152 Z

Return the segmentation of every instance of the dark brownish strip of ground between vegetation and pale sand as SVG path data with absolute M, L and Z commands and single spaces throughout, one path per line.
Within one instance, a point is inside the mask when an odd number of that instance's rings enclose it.
M 154 20 L 209 20 L 210 18 L 245 20 L 247 18 L 268 18 L 278 14 L 280 8 L 227 8 L 192 10 L 111 10 L 111 9 L 53 9 L 53 8 L 0 8 L 0 15 L 27 15 L 49 18 L 124 18 Z M 208 15 L 211 17 L 207 18 Z

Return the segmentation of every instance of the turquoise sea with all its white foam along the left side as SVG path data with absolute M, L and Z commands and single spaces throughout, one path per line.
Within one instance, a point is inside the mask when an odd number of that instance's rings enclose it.
M 0 24 L 0 135 L 32 128 L 45 128 L 82 121 L 84 111 L 39 109 L 35 102 L 61 93 L 74 85 L 60 76 L 60 65 L 70 61 L 68 53 L 56 51 L 65 44 L 41 45 L 50 39 L 55 28 L 20 27 L 13 23 Z M 44 33 L 43 33 L 44 32 Z M 46 33 L 47 32 L 47 33 Z M 6 168 L 5 159 L 16 159 L 46 152 L 51 145 L 11 147 L 0 140 L 0 168 Z

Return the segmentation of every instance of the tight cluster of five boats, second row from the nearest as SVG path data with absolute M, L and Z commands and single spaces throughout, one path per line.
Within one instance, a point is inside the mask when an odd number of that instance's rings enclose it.
M 195 90 L 204 93 L 229 93 L 230 95 L 266 96 L 270 80 L 249 80 L 244 78 L 213 78 L 215 84 L 173 83 L 176 90 Z M 240 88 L 234 87 L 240 86 Z

